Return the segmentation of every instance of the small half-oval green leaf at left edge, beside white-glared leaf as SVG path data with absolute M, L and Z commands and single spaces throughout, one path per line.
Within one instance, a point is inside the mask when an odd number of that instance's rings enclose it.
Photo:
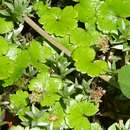
M 0 55 L 5 55 L 8 51 L 9 43 L 3 38 L 0 37 Z

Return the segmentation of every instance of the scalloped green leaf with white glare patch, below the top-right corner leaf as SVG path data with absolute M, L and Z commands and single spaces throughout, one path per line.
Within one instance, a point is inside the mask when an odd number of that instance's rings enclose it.
M 104 2 L 98 9 L 97 13 L 97 27 L 103 33 L 116 33 L 117 34 L 118 19 L 114 12 L 109 9 L 108 5 Z

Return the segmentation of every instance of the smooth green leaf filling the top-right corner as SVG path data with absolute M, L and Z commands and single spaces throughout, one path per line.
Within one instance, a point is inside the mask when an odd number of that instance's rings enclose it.
M 106 0 L 109 8 L 115 12 L 117 16 L 130 16 L 130 0 Z

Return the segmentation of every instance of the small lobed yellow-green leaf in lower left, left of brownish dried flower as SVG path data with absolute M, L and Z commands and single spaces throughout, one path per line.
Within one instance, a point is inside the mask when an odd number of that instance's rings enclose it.
M 28 93 L 26 91 L 18 90 L 16 94 L 10 95 L 10 107 L 16 112 L 27 106 Z

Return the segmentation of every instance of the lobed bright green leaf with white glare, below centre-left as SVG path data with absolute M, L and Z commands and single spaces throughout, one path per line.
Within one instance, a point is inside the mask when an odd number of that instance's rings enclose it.
M 42 106 L 52 105 L 55 101 L 59 100 L 58 89 L 61 88 L 62 81 L 58 78 L 51 78 L 48 72 L 38 74 L 37 78 L 30 81 L 29 89 L 43 93 L 43 99 L 40 104 Z

